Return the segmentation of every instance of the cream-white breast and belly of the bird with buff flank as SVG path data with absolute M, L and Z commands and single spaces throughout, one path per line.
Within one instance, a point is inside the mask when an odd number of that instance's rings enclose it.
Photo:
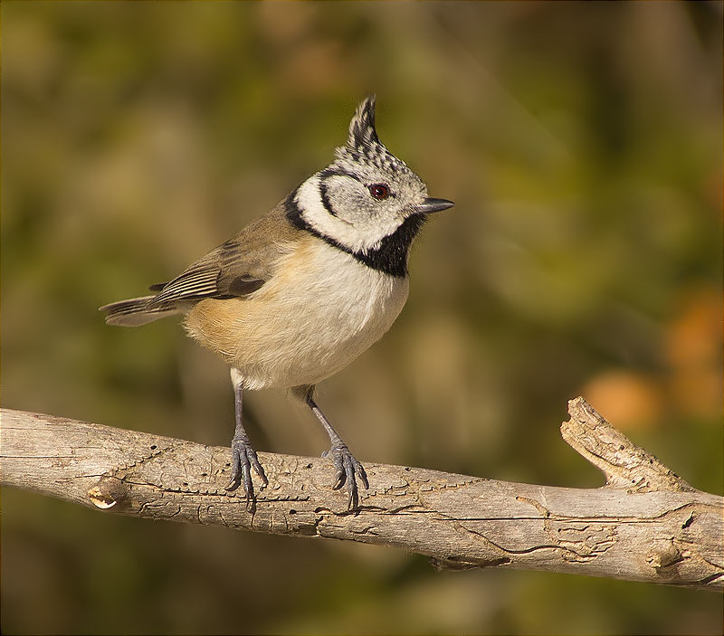
M 204 300 L 186 327 L 243 375 L 250 389 L 316 384 L 395 322 L 409 285 L 315 240 L 245 299 Z

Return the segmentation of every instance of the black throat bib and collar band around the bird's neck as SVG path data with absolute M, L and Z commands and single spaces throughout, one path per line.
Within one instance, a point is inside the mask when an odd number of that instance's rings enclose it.
M 414 237 L 424 224 L 424 214 L 408 216 L 405 222 L 402 223 L 395 232 L 388 234 L 380 241 L 379 247 L 376 248 L 376 250 L 354 252 L 330 236 L 320 233 L 319 230 L 313 228 L 310 223 L 307 223 L 301 215 L 299 205 L 294 200 L 295 195 L 296 191 L 292 192 L 284 201 L 287 218 L 294 227 L 314 234 L 314 236 L 319 237 L 322 241 L 329 243 L 329 245 L 336 247 L 338 250 L 354 256 L 357 261 L 364 263 L 373 270 L 382 271 L 397 278 L 405 278 L 407 276 L 407 254 L 410 251 L 410 245 Z

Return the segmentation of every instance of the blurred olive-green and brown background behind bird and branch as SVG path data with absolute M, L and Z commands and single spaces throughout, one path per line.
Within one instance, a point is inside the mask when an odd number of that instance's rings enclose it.
M 2 4 L 3 406 L 226 445 L 220 359 L 97 308 L 168 280 L 329 163 L 377 95 L 457 205 L 383 341 L 321 386 L 360 460 L 597 487 L 583 394 L 722 492 L 721 3 Z M 256 448 L 319 455 L 281 391 Z M 5 633 L 721 630 L 716 593 L 439 573 L 393 549 L 154 524 L 5 489 Z M 93 549 L 89 550 L 89 546 Z

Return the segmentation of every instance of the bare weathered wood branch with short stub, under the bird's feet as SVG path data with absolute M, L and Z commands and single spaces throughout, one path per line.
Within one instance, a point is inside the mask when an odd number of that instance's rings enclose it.
M 512 567 L 724 588 L 724 498 L 691 488 L 583 398 L 564 439 L 599 489 L 517 484 L 365 462 L 361 510 L 328 460 L 259 453 L 270 485 L 250 513 L 228 493 L 230 451 L 2 410 L 0 482 L 111 513 L 402 547 L 440 567 Z

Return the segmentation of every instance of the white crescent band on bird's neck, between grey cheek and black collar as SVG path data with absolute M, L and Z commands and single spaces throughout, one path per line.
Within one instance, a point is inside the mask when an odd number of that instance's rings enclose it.
M 317 232 L 340 243 L 352 252 L 376 250 L 382 239 L 388 234 L 394 233 L 400 225 L 399 221 L 390 220 L 387 223 L 375 223 L 360 228 L 340 218 L 344 216 L 344 211 L 335 211 L 338 216 L 329 214 L 319 191 L 319 175 L 310 176 L 300 185 L 294 200 L 304 221 Z

